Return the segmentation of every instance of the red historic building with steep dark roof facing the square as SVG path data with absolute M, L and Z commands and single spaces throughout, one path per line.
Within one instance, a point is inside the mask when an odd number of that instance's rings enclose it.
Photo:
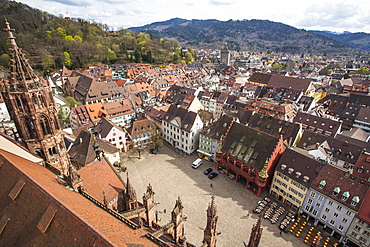
M 244 180 L 245 187 L 260 196 L 270 185 L 284 150 L 282 137 L 234 122 L 217 150 L 217 170 L 236 181 Z

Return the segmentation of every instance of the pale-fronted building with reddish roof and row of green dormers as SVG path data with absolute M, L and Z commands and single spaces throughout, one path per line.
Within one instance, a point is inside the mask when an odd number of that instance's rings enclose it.
M 342 241 L 363 204 L 369 182 L 335 166 L 325 164 L 308 190 L 302 210 Z

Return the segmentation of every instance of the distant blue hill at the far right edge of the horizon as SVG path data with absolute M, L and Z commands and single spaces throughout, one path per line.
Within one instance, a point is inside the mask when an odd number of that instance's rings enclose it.
M 336 34 L 328 31 L 311 31 L 321 34 L 331 39 L 335 39 L 343 44 L 350 45 L 356 49 L 370 52 L 370 34 L 368 33 L 349 33 Z

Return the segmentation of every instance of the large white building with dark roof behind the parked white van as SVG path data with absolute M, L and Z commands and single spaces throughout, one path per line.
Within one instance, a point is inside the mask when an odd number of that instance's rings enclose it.
M 163 138 L 175 148 L 191 154 L 199 145 L 203 122 L 195 112 L 171 105 L 162 119 Z

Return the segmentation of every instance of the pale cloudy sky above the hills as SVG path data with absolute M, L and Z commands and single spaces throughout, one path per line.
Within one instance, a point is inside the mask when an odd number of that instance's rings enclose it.
M 21 0 L 64 17 L 139 27 L 171 18 L 270 20 L 305 30 L 370 33 L 369 0 Z

